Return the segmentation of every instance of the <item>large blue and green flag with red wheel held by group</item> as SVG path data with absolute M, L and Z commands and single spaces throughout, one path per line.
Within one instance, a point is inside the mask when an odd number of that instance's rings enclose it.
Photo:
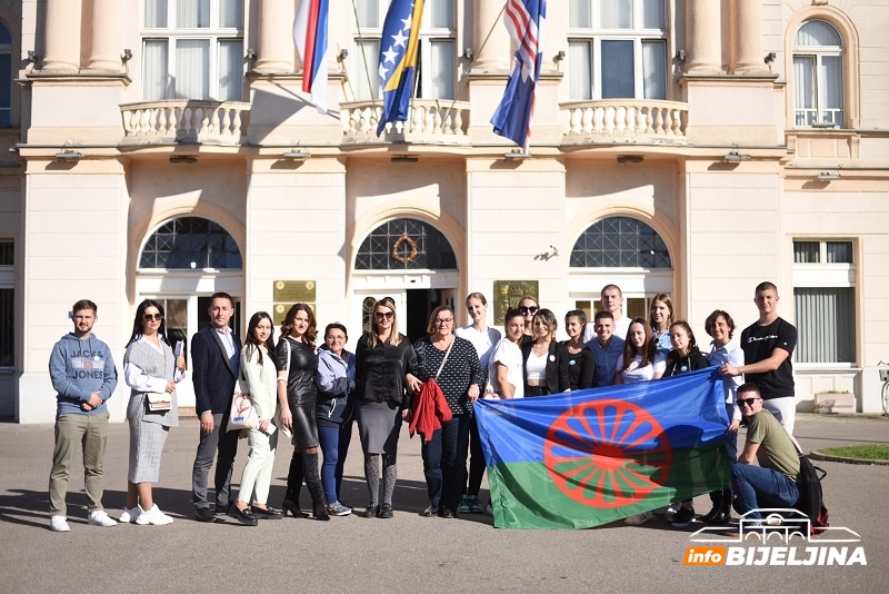
M 600 526 L 729 484 L 715 367 L 475 412 L 500 528 Z

